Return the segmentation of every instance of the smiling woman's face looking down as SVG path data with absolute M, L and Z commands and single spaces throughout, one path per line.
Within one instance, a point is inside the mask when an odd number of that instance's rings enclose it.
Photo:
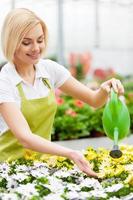
M 36 64 L 45 48 L 44 33 L 41 24 L 33 27 L 23 38 L 16 50 L 14 61 L 31 65 Z

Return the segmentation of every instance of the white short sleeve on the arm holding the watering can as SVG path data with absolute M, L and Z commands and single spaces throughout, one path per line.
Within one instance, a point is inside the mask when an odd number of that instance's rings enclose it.
M 70 72 L 62 65 L 52 60 L 45 60 L 49 71 L 52 85 L 59 88 L 71 76 Z

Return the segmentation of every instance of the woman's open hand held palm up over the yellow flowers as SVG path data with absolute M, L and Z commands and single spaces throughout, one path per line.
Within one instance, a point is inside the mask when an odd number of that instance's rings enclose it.
M 73 160 L 75 162 L 75 164 L 78 166 L 78 168 L 86 173 L 89 176 L 94 176 L 94 177 L 98 177 L 97 173 L 95 173 L 90 165 L 89 162 L 85 159 L 85 157 L 82 155 L 81 152 L 79 151 L 73 151 L 69 154 L 69 159 Z

